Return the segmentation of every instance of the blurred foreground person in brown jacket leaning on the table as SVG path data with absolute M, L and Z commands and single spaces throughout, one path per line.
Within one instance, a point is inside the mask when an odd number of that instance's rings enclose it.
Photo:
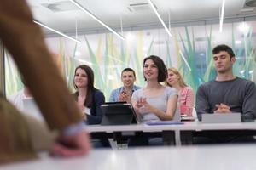
M 90 150 L 82 113 L 57 70 L 40 28 L 26 1 L 2 0 L 0 38 L 15 59 L 45 121 L 58 137 L 50 146 L 52 156 L 81 156 Z M 15 41 L 14 41 L 15 40 Z M 0 95 L 0 164 L 36 157 L 26 117 Z

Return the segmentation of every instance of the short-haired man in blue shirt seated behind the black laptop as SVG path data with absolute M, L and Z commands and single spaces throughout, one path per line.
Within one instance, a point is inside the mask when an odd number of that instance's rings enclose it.
M 135 71 L 133 71 L 131 68 L 125 68 L 122 71 L 121 79 L 124 86 L 114 89 L 110 94 L 109 101 L 126 101 L 127 103 L 131 103 L 132 93 L 140 88 L 134 85 L 134 82 L 136 81 Z

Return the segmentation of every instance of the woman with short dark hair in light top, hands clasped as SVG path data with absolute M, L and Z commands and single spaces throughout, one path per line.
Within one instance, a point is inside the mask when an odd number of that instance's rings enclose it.
M 151 55 L 143 60 L 143 76 L 147 85 L 132 94 L 132 105 L 143 122 L 172 120 L 177 108 L 177 90 L 166 87 L 167 69 L 163 60 Z M 179 118 L 179 115 L 175 116 Z

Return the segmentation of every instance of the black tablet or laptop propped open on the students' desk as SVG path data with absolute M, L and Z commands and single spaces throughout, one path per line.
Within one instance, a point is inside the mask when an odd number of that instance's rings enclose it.
M 142 117 L 137 115 L 131 104 L 126 102 L 108 102 L 101 105 L 101 125 L 129 125 L 142 122 Z

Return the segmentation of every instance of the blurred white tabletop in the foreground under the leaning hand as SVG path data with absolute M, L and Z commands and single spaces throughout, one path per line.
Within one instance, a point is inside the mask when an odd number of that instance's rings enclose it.
M 50 158 L 0 166 L 0 170 L 241 170 L 256 169 L 256 145 L 218 145 L 92 150 L 89 156 Z

